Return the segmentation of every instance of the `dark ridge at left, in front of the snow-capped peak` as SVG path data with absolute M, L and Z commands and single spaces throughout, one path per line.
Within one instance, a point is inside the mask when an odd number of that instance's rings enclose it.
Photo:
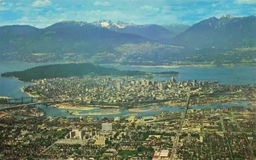
M 44 29 L 0 27 L 0 53 L 98 53 L 123 43 L 153 41 L 135 34 L 99 28 L 87 22 L 62 21 Z

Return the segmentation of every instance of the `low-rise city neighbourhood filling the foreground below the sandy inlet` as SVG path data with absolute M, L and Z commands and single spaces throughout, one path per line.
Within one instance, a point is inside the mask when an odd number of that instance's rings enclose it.
M 17 112 L 1 112 L 0 159 L 255 158 L 253 108 L 188 109 L 185 117 L 184 112 L 165 111 L 149 117 L 151 121 L 136 117 L 19 119 Z

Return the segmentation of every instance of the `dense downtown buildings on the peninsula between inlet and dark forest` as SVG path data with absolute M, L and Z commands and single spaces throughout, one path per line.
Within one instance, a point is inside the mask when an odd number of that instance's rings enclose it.
M 137 80 L 136 80 L 137 79 Z M 129 102 L 181 102 L 188 94 L 196 95 L 191 102 L 215 103 L 231 100 L 250 100 L 255 85 L 218 85 L 215 82 L 196 80 L 158 82 L 138 77 L 84 76 L 34 80 L 34 85 L 25 91 L 31 95 L 51 99 L 79 98 L 86 103 L 129 103 Z

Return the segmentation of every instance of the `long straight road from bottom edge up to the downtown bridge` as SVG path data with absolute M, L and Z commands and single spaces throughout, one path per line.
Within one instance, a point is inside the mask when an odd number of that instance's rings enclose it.
M 181 121 L 181 124 L 180 124 L 180 128 L 179 128 L 179 130 L 178 130 L 178 132 L 176 134 L 176 137 L 175 137 L 175 140 L 174 140 L 173 149 L 172 149 L 172 153 L 170 154 L 169 160 L 174 160 L 175 159 L 176 147 L 177 147 L 177 145 L 179 143 L 179 140 L 180 140 L 180 135 L 181 135 L 181 130 L 182 130 L 182 127 L 183 127 L 183 124 L 184 124 L 184 120 L 186 119 L 186 116 L 187 116 L 187 109 L 188 109 L 189 101 L 190 101 L 190 95 L 187 98 L 186 106 L 185 106 L 185 109 L 184 109 L 184 116 L 182 118 L 182 121 Z

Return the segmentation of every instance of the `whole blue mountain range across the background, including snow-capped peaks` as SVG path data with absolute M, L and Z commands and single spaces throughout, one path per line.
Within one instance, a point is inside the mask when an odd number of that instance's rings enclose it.
M 255 47 L 256 17 L 211 17 L 187 25 L 61 21 L 38 29 L 0 27 L 4 61 L 177 61 L 198 49 Z M 167 58 L 166 58 L 167 57 Z M 168 59 L 171 57 L 171 59 Z

